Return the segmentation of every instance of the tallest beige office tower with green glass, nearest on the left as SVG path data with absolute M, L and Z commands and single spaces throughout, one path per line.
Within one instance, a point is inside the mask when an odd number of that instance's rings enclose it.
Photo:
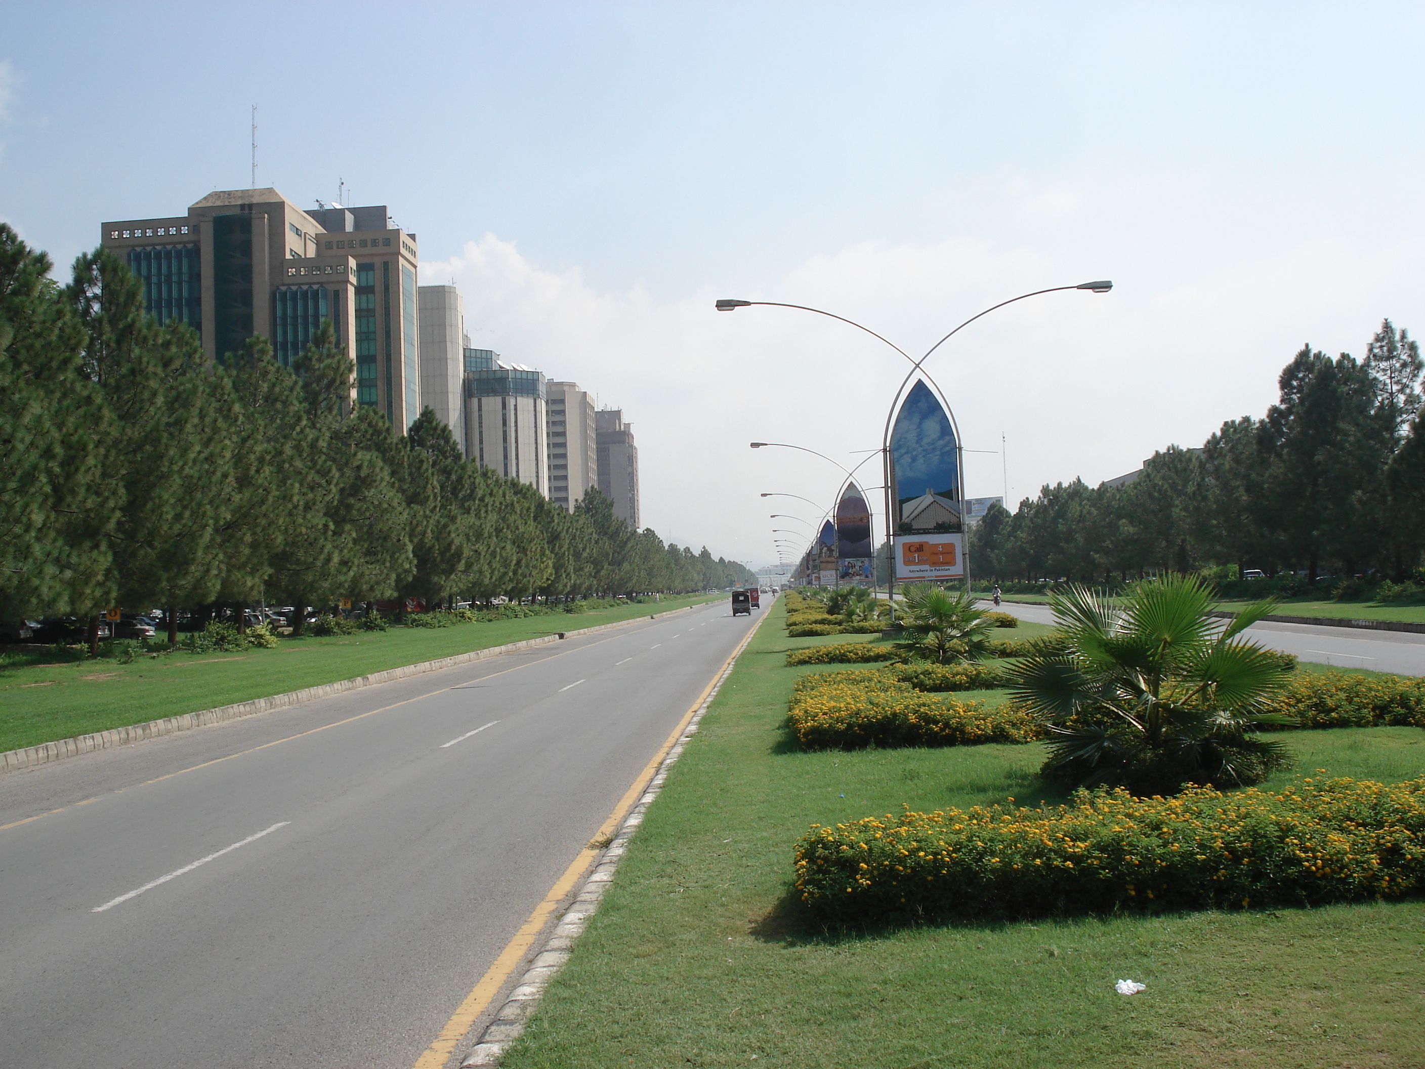
M 304 211 L 276 190 L 222 190 L 187 215 L 105 222 L 101 239 L 158 322 L 187 322 L 209 359 L 262 335 L 291 366 L 331 319 L 356 362 L 352 399 L 400 433 L 420 413 L 416 235 L 385 205 Z

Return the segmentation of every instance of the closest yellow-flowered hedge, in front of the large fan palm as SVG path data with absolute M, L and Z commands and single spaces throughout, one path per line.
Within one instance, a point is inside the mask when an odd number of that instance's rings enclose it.
M 1079 791 L 1036 810 L 812 825 L 797 844 L 797 889 L 825 921 L 1315 905 L 1418 895 L 1422 882 L 1425 778 Z

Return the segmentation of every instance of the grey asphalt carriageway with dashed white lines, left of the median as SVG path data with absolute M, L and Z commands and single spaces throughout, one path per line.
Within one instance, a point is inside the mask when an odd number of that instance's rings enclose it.
M 758 619 L 0 777 L 0 1066 L 409 1069 Z

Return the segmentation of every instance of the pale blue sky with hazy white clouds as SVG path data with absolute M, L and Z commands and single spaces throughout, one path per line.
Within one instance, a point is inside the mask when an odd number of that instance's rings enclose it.
M 624 409 L 644 525 L 754 566 L 909 363 L 717 298 L 919 358 L 1112 279 L 926 363 L 966 495 L 1012 505 L 1261 415 L 1304 344 L 1425 331 L 1421 4 L 231 11 L 0 7 L 0 220 L 64 275 L 103 220 L 249 185 L 256 104 L 258 185 L 389 205 L 476 346 Z

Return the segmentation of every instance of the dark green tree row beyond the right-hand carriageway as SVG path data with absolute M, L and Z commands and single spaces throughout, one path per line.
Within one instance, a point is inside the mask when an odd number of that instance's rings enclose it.
M 1425 550 L 1419 346 L 1388 319 L 1364 359 L 1310 345 L 1280 401 L 1171 446 L 1134 482 L 1045 486 L 972 534 L 976 579 L 1104 582 L 1201 567 L 1402 582 Z

